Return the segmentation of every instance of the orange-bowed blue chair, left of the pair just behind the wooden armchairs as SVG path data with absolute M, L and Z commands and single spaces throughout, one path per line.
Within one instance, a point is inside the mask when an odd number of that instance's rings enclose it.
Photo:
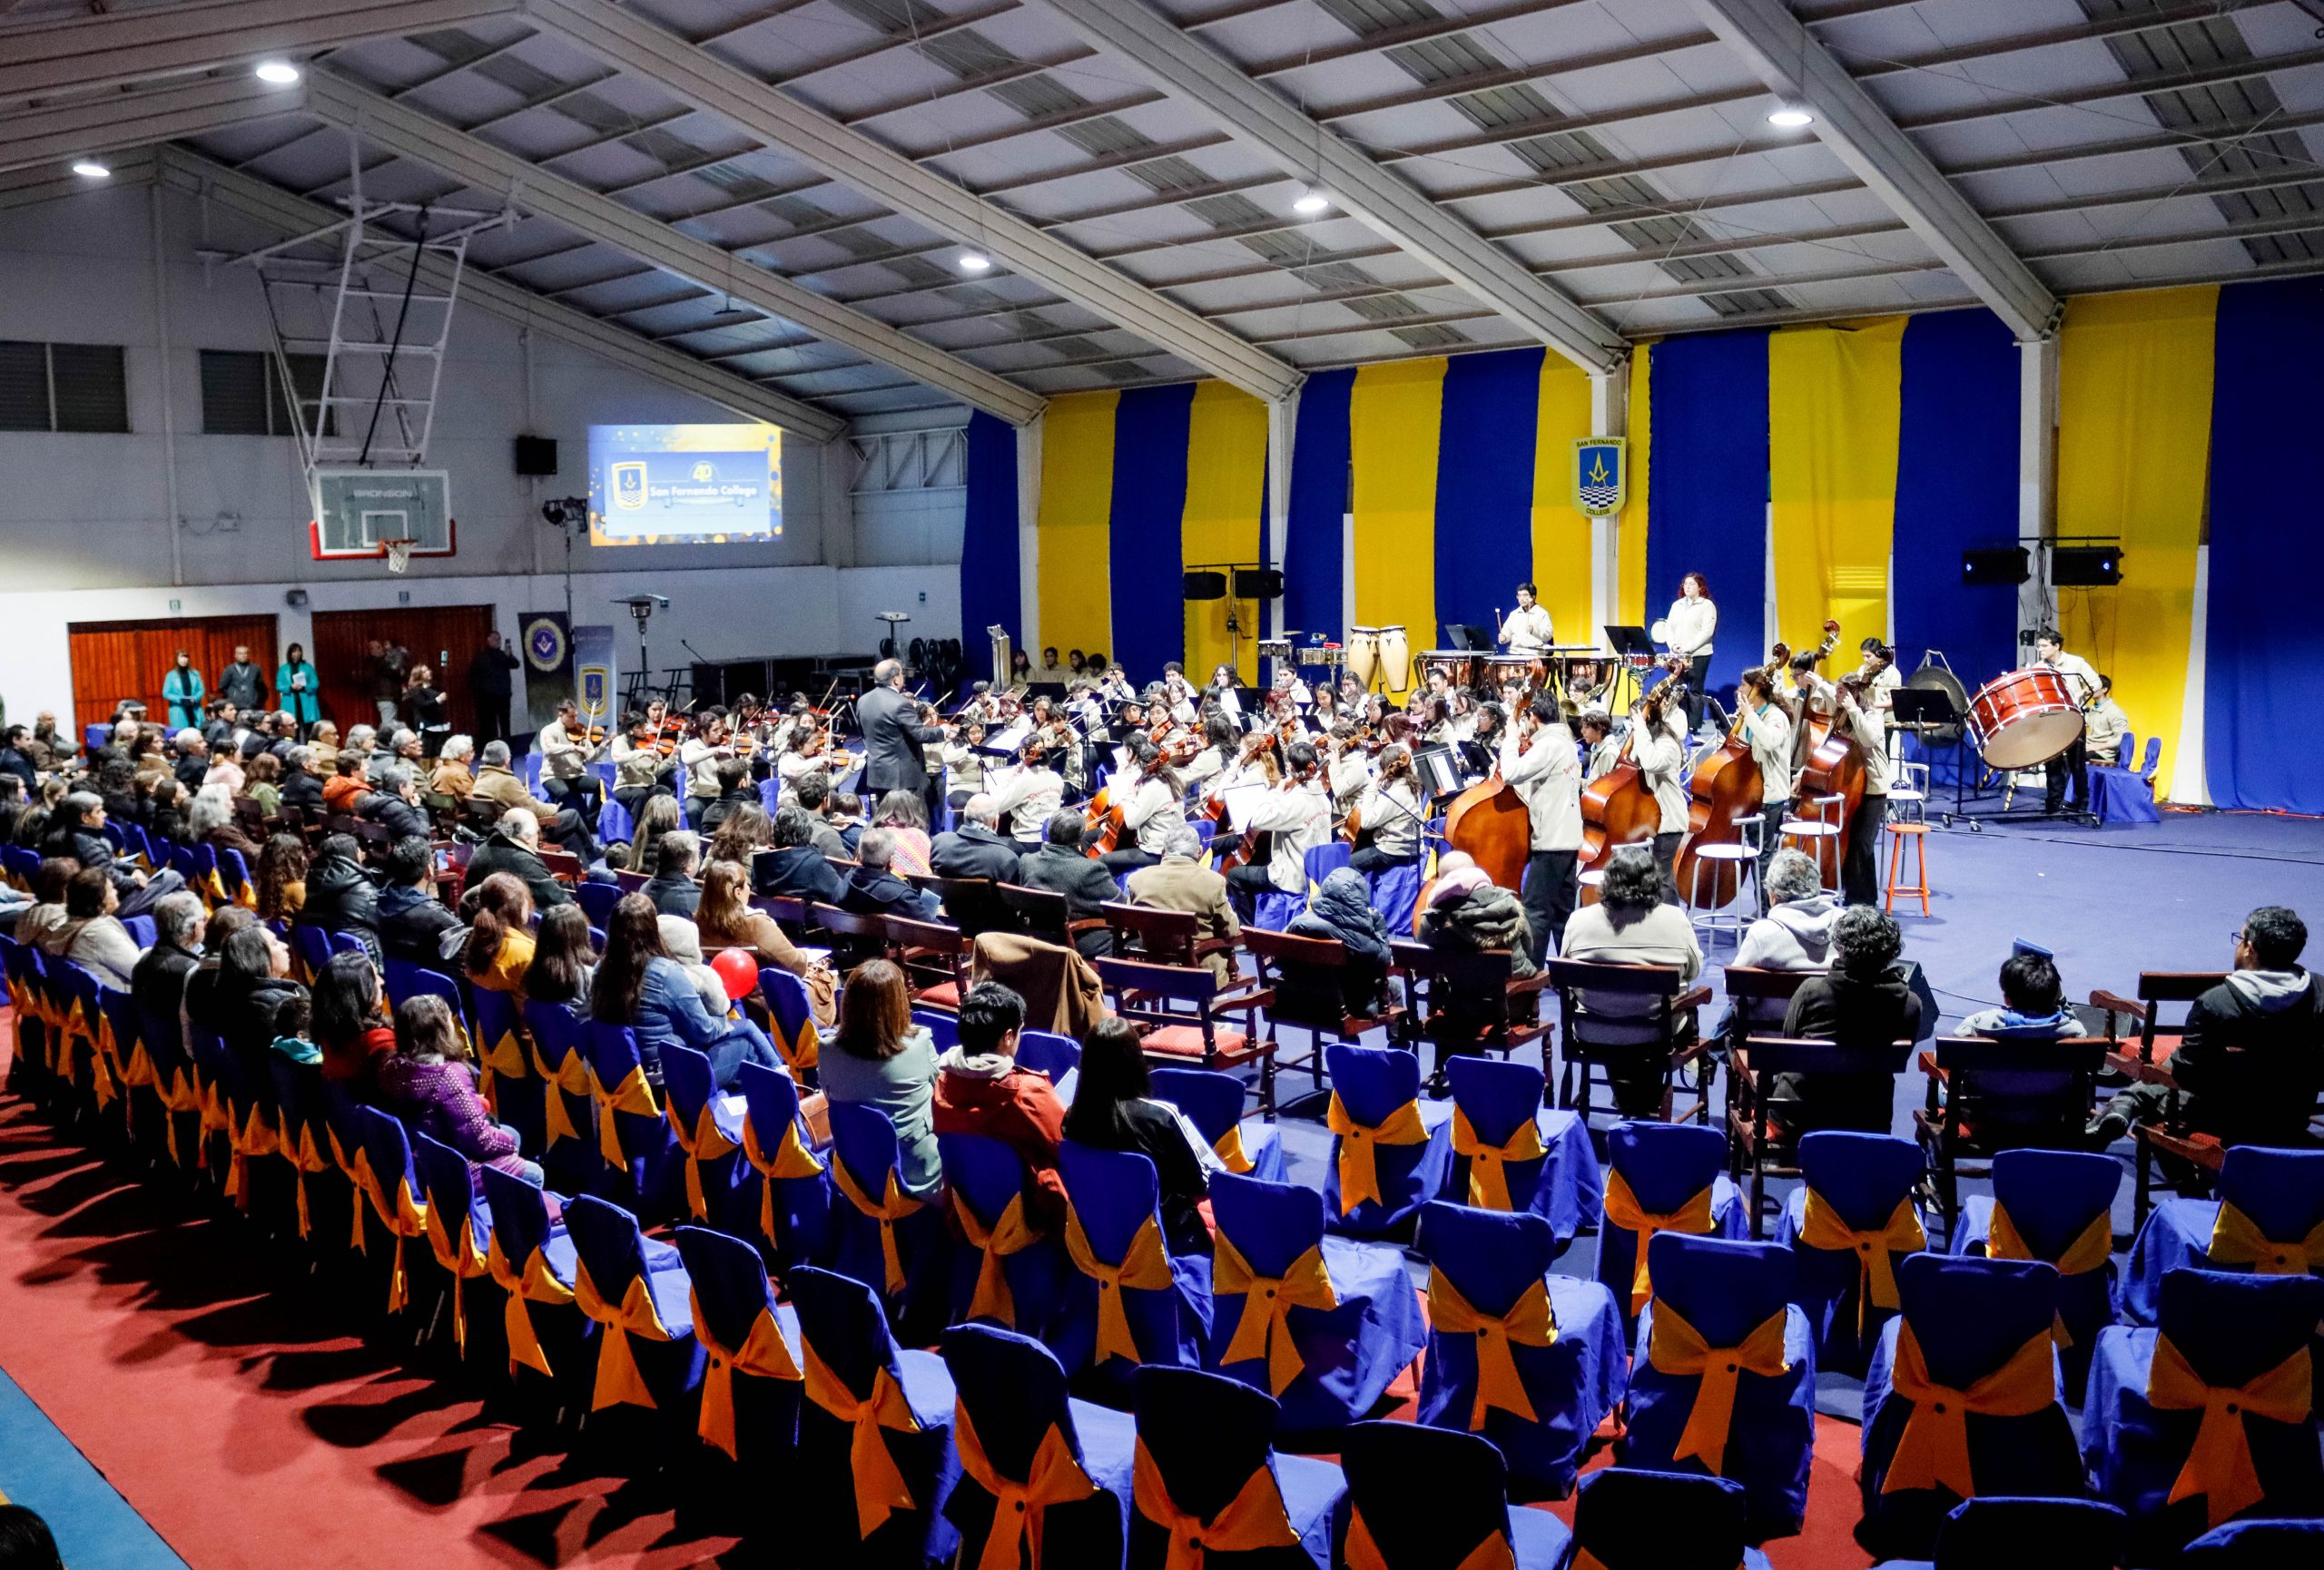
M 1348 1238 L 1411 1238 L 1420 1205 L 1452 1171 L 1452 1108 L 1420 1099 L 1420 1059 L 1404 1047 L 1332 1043 L 1332 1164 L 1325 1226 Z

